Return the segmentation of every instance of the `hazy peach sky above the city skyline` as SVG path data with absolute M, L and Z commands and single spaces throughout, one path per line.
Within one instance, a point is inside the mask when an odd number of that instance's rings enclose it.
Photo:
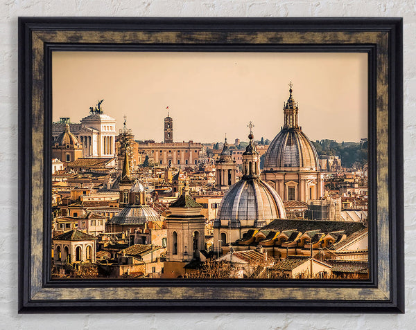
M 367 137 L 365 53 L 55 52 L 53 120 L 79 122 L 104 99 L 136 140 L 163 140 L 167 106 L 176 142 L 248 140 L 250 120 L 256 140 L 272 140 L 291 81 L 311 140 Z

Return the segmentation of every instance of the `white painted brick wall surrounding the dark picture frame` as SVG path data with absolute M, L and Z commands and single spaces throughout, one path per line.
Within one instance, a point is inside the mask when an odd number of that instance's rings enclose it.
M 17 17 L 404 17 L 406 315 L 17 315 Z M 2 0 L 0 3 L 0 329 L 415 329 L 416 3 L 414 0 Z

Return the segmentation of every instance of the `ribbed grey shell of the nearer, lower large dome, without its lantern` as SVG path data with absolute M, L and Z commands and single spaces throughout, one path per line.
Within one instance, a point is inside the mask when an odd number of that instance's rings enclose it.
M 264 226 L 272 219 L 286 219 L 280 196 L 264 181 L 250 178 L 229 188 L 216 221 L 228 220 L 230 225 L 238 227 L 241 220 L 255 220 L 256 226 Z

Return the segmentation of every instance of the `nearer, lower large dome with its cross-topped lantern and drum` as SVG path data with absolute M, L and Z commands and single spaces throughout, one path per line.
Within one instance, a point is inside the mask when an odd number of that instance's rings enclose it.
M 243 177 L 223 197 L 214 221 L 214 246 L 218 251 L 253 228 L 274 219 L 286 219 L 283 201 L 270 185 L 260 180 L 260 156 L 250 122 L 249 145 L 243 153 Z

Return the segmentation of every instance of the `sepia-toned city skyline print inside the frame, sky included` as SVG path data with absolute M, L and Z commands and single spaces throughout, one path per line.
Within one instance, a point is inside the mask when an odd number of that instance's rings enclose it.
M 368 279 L 367 54 L 54 52 L 54 278 Z

